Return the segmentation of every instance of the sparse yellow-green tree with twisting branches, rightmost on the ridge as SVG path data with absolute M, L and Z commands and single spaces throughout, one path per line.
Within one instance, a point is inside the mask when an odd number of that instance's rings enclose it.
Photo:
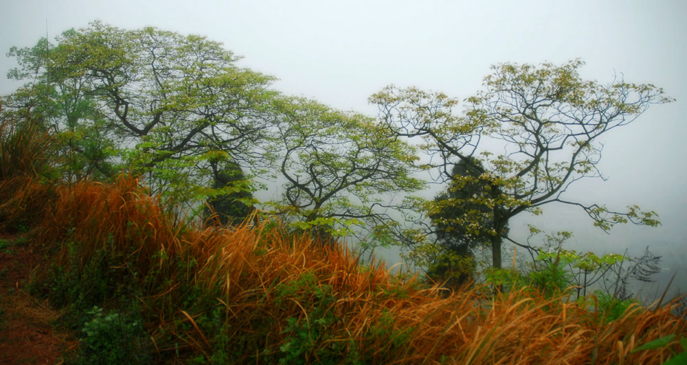
M 422 150 L 432 157 L 427 166 L 438 168 L 444 180 L 458 185 L 473 180 L 450 174 L 460 161 L 480 173 L 486 194 L 455 205 L 487 207 L 488 224 L 483 225 L 482 213 L 447 223 L 488 234 L 494 268 L 502 266 L 504 239 L 513 241 L 504 231 L 508 221 L 525 212 L 539 214 L 546 204 L 581 208 L 604 231 L 618 223 L 660 224 L 655 212 L 636 205 L 610 211 L 567 200 L 567 188 L 576 181 L 602 178 L 597 169 L 600 137 L 631 123 L 651 104 L 672 101 L 662 89 L 622 77 L 608 84 L 583 80 L 578 74 L 582 66 L 580 60 L 561 66 L 497 64 L 484 78 L 484 91 L 466 99 L 460 115 L 453 113 L 457 99 L 416 88 L 387 86 L 370 98 L 398 137 L 423 139 Z M 492 146 L 503 152 L 494 154 Z M 437 158 L 440 162 L 434 163 Z M 430 202 L 427 211 L 432 215 L 438 204 Z

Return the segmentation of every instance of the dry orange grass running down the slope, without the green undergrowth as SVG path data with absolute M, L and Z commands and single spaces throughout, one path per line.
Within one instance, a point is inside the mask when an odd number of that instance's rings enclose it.
M 197 262 L 190 273 L 194 283 L 221 288 L 216 303 L 230 324 L 229 338 L 257 331 L 252 328 L 256 318 L 272 318 L 273 328 L 262 334 L 265 349 L 260 351 L 279 353 L 288 336 L 287 318 L 311 320 L 308 313 L 317 298 L 307 288 L 282 301 L 275 290 L 305 274 L 315 276 L 317 287 L 328 285 L 336 298 L 327 311 L 338 319 L 317 349 L 354 343 L 372 363 L 431 364 L 443 357 L 460 364 L 588 364 L 594 358 L 596 364 L 660 364 L 669 357 L 668 349 L 630 351 L 670 333 L 685 333 L 684 320 L 670 314 L 674 304 L 655 311 L 633 307 L 622 318 L 600 324 L 596 314 L 576 303 L 543 298 L 531 290 L 493 298 L 476 290 L 446 294 L 438 286 L 398 280 L 382 263 L 360 266 L 346 249 L 284 235 L 272 222 L 184 231 L 168 224 L 157 201 L 136 185 L 134 179 L 121 178 L 115 185 L 60 187 L 41 226 L 42 242 L 69 232 L 87 256 L 110 239 L 117 250 L 136 255 L 140 270 L 150 267 L 160 250 L 168 255 L 186 252 L 185 257 Z M 216 333 L 203 333 L 192 322 L 203 313 L 187 309 L 177 308 L 177 320 L 192 324 L 186 341 L 209 353 L 208 339 Z M 388 333 L 375 335 L 385 315 L 393 318 Z M 392 344 L 394 333 L 403 336 L 402 346 Z M 317 349 L 310 361 L 316 361 Z M 245 360 L 252 355 L 247 352 Z

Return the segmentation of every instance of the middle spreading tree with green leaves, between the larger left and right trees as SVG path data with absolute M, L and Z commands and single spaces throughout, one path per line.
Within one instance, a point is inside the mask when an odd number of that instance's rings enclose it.
M 359 228 L 385 244 L 395 221 L 381 194 L 423 187 L 411 175 L 412 148 L 374 119 L 311 100 L 284 97 L 275 101 L 275 113 L 274 153 L 284 181 L 275 211 L 324 242 Z

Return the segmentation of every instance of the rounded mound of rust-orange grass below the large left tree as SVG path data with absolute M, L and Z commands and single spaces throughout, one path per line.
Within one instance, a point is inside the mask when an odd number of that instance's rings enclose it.
M 134 178 L 122 176 L 113 185 L 81 181 L 57 187 L 56 194 L 45 209 L 38 242 L 78 242 L 82 259 L 108 243 L 143 272 L 152 267 L 153 255 L 181 251 L 179 228 L 172 227 L 159 202 Z

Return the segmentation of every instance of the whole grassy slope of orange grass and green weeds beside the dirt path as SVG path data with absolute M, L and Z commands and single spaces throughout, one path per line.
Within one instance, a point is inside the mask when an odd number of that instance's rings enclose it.
M 175 224 L 135 178 L 45 183 L 49 137 L 21 132 L 38 142 L 8 148 L 27 124 L 3 123 L 0 229 L 32 229 L 45 263 L 30 286 L 82 337 L 74 363 L 662 364 L 687 333 L 675 303 L 607 323 L 535 290 L 401 279 L 278 222 Z

